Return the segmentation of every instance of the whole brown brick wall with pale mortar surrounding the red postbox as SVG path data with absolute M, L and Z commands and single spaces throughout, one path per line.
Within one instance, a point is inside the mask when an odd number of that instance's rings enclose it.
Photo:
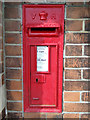
M 36 2 L 38 1 L 33 0 L 33 3 Z M 65 3 L 63 118 L 79 119 L 90 116 L 89 11 L 89 3 Z M 58 113 L 24 114 L 22 3 L 5 3 L 4 21 L 8 117 L 60 118 L 62 115 Z

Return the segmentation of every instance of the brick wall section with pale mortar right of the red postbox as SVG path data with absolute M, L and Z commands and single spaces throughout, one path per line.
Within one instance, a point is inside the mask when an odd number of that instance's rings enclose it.
M 64 118 L 87 118 L 90 114 L 90 6 L 66 3 L 65 10 Z

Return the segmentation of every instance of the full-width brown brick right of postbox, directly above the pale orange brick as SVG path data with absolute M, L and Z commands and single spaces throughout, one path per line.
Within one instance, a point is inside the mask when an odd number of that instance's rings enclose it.
M 88 81 L 65 81 L 66 91 L 83 91 L 90 90 L 90 82 Z

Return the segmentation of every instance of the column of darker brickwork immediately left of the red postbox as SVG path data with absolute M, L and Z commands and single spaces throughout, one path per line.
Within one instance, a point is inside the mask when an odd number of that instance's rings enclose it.
M 5 4 L 5 64 L 8 117 L 23 115 L 22 5 Z

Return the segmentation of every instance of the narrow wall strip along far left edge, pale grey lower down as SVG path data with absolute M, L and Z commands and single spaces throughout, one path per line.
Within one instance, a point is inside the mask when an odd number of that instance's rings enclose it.
M 4 82 L 4 59 L 3 59 L 3 3 L 0 2 L 0 120 L 5 116 L 5 82 Z

